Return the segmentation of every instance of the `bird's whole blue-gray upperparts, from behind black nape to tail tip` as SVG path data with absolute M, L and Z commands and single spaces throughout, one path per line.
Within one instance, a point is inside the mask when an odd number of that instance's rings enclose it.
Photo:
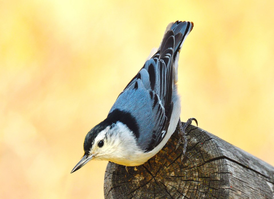
M 189 24 L 177 21 L 169 25 L 158 51 L 145 62 L 110 110 L 132 113 L 140 128 L 138 145 L 145 151 L 154 149 L 168 130 L 173 109 L 174 53 L 177 54 L 189 33 Z

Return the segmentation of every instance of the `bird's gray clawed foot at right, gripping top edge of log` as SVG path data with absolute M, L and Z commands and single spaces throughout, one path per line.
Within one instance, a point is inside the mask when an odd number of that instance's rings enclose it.
M 188 127 L 188 125 L 190 125 L 192 123 L 192 120 L 194 120 L 198 126 L 198 122 L 194 117 L 189 118 L 188 121 L 186 121 L 186 123 L 184 124 L 184 126 L 182 125 L 181 118 L 179 118 L 179 121 L 178 121 L 177 128 L 178 128 L 179 141 L 176 146 L 176 149 L 178 149 L 178 147 L 180 146 L 181 143 L 184 143 L 183 154 L 181 157 L 182 162 L 183 162 L 184 157 L 186 157 L 186 147 L 188 145 L 188 139 L 186 138 L 186 128 Z M 182 141 L 182 140 L 184 140 L 184 141 Z

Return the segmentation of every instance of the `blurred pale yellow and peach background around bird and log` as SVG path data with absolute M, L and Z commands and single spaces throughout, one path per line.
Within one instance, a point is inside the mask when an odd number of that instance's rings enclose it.
M 0 198 L 103 198 L 107 162 L 70 171 L 86 133 L 158 47 L 193 21 L 182 121 L 274 165 L 274 1 L 0 1 Z

